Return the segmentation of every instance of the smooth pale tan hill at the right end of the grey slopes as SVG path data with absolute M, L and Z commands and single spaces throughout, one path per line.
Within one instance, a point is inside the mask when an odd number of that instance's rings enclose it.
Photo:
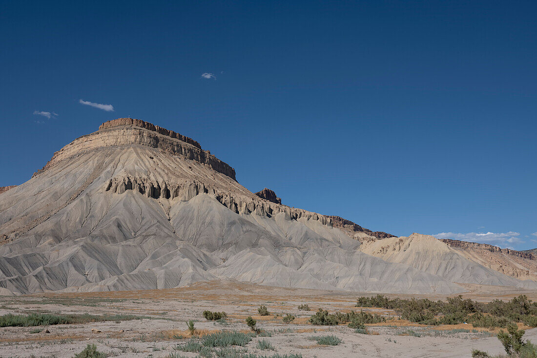
M 413 233 L 409 237 L 364 241 L 360 249 L 368 255 L 404 263 L 451 282 L 536 287 L 533 281 L 518 281 L 485 267 L 430 235 Z

